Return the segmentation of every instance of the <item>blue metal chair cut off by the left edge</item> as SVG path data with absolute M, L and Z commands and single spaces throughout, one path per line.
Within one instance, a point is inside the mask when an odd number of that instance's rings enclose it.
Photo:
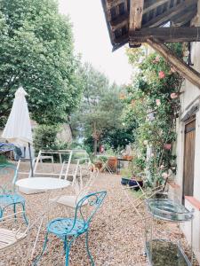
M 15 165 L 11 163 L 0 164 L 0 218 L 3 217 L 7 207 L 13 206 L 13 212 L 15 214 L 17 205 L 20 205 L 23 210 L 24 220 L 28 224 L 28 219 L 25 214 L 25 199 L 15 192 L 17 177 L 18 170 Z

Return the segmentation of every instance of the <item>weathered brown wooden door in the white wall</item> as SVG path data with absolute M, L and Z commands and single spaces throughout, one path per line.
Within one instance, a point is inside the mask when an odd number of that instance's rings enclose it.
M 185 126 L 183 200 L 184 196 L 193 196 L 195 139 L 196 139 L 196 119 L 193 119 L 192 121 L 189 121 Z

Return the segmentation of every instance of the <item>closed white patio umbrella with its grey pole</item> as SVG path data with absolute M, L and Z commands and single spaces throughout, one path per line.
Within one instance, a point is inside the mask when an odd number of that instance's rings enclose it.
M 30 152 L 30 145 L 33 144 L 28 104 L 25 96 L 27 92 L 20 87 L 15 92 L 12 111 L 5 125 L 2 137 L 14 145 L 28 145 L 31 176 L 33 176 L 33 166 Z

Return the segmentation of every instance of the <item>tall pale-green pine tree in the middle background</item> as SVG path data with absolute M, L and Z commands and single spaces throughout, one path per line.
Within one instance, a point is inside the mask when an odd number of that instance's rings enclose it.
M 93 150 L 97 152 L 100 140 L 108 136 L 110 130 L 122 127 L 122 101 L 119 99 L 120 88 L 109 85 L 108 78 L 86 64 L 82 69 L 84 96 L 79 110 L 72 117 L 74 129 L 88 142 L 93 139 Z

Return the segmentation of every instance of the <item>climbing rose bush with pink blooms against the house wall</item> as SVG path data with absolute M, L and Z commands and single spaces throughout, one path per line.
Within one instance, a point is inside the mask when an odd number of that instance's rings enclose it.
M 174 52 L 181 57 L 180 43 L 171 44 Z M 143 51 L 143 50 L 142 50 Z M 132 85 L 125 91 L 124 120 L 135 123 L 135 143 L 138 158 L 133 160 L 136 168 L 148 169 L 150 184 L 164 182 L 162 174 L 174 167 L 172 144 L 176 140 L 175 125 L 179 115 L 179 98 L 172 98 L 172 94 L 179 93 L 182 78 L 176 70 L 162 57 L 151 53 L 138 61 L 140 51 L 128 50 L 127 54 L 132 65 L 137 60 L 138 74 Z M 151 150 L 149 158 L 147 146 Z

